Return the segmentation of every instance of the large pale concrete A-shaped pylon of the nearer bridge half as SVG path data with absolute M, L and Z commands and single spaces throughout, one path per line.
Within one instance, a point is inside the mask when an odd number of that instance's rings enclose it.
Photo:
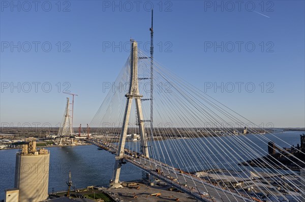
M 137 113 L 137 126 L 139 127 L 140 137 L 141 137 L 141 150 L 143 155 L 149 158 L 148 147 L 147 147 L 147 136 L 144 131 L 144 119 L 141 106 L 141 98 L 143 95 L 139 93 L 139 82 L 138 82 L 138 44 L 133 39 L 131 42 L 131 52 L 130 52 L 130 86 L 129 92 L 125 95 L 127 97 L 126 108 L 124 113 L 123 126 L 121 130 L 121 136 L 118 143 L 118 150 L 115 156 L 115 166 L 113 179 L 110 182 L 110 186 L 114 188 L 119 188 L 119 174 L 121 165 L 124 164 L 124 146 L 126 141 L 126 135 L 128 130 L 129 116 L 132 106 L 132 101 L 135 100 L 136 113 Z

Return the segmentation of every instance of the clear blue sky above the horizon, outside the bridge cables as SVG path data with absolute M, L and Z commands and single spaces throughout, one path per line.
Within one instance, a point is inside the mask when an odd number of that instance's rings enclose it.
M 113 82 L 129 56 L 130 37 L 150 41 L 148 10 L 153 4 L 156 60 L 254 123 L 305 125 L 304 1 L 62 1 L 60 8 L 57 1 L 0 2 L 2 124 L 56 126 L 66 102 L 58 83 L 63 92 L 65 82 L 79 95 L 74 126 L 89 123 L 106 96 L 103 82 Z M 113 50 L 113 44 L 119 48 Z M 20 93 L 18 87 L 11 89 L 18 82 Z M 27 82 L 32 87 L 28 93 Z M 37 92 L 33 82 L 41 83 Z M 235 88 L 236 82 L 244 84 L 232 93 L 204 88 L 222 82 Z M 245 89 L 250 82 L 253 93 Z M 266 92 L 269 87 L 273 93 Z

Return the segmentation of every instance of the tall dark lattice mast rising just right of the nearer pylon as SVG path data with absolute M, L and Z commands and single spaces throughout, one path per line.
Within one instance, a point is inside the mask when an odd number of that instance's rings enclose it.
M 153 136 L 153 112 L 154 112 L 154 30 L 153 30 L 154 10 L 151 10 L 151 27 L 150 27 L 150 141 L 154 140 Z

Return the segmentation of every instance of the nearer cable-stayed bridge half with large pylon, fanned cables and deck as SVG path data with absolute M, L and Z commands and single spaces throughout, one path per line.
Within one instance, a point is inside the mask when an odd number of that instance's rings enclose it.
M 268 154 L 267 131 L 151 63 L 135 41 L 90 127 L 88 141 L 116 155 L 111 187 L 121 186 L 120 169 L 129 162 L 201 201 L 305 199 L 304 177 L 294 171 L 303 171 L 304 145 Z

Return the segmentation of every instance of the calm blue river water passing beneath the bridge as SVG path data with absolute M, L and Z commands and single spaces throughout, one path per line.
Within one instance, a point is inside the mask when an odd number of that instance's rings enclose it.
M 270 134 L 260 135 L 261 137 L 266 137 L 269 140 L 275 142 L 276 144 L 282 147 L 289 147 L 291 145 L 297 145 L 300 143 L 300 134 L 304 132 L 299 131 L 288 131 L 284 133 L 273 133 L 274 136 Z M 217 144 L 211 140 L 220 140 L 226 142 L 228 146 L 234 145 L 234 141 L 232 141 L 232 137 L 211 137 L 206 138 L 201 141 L 202 144 Z M 247 141 L 250 139 L 252 141 L 251 144 L 254 146 L 262 145 L 261 141 L 258 139 L 258 135 L 247 135 L 245 136 L 238 136 L 234 138 L 240 138 L 243 141 Z M 279 139 L 287 142 L 280 141 Z M 267 142 L 266 140 L 263 140 Z M 217 141 L 216 141 L 217 142 Z M 174 144 L 173 144 L 174 143 Z M 174 139 L 168 140 L 164 144 L 156 144 L 159 151 L 161 149 L 164 150 L 164 147 L 173 145 L 190 145 L 193 144 L 193 139 Z M 160 146 L 158 146 L 160 145 Z M 202 146 L 203 148 L 207 148 L 208 146 Z M 265 147 L 265 145 L 264 145 Z M 178 149 L 179 149 L 178 148 Z M 68 181 L 69 171 L 72 173 L 72 182 L 73 186 L 76 188 L 83 188 L 90 185 L 107 185 L 109 180 L 112 178 L 113 174 L 113 167 L 114 167 L 114 155 L 109 153 L 105 150 L 97 150 L 97 147 L 94 145 L 84 145 L 84 146 L 65 146 L 65 147 L 49 147 L 47 148 L 50 150 L 50 169 L 49 169 L 49 192 L 51 193 L 52 190 L 56 191 L 63 191 L 67 189 L 66 182 Z M 172 148 L 172 153 L 175 154 L 174 148 Z M 187 155 L 188 152 L 192 151 L 194 147 L 190 147 L 183 150 L 179 150 L 180 154 Z M 265 154 L 267 153 L 267 148 L 263 148 Z M 7 188 L 14 187 L 14 177 L 15 177 L 15 159 L 16 159 L 16 152 L 17 149 L 9 149 L 9 150 L 0 150 L 0 199 L 4 199 L 4 190 Z M 195 152 L 195 150 L 194 150 Z M 198 152 L 198 151 L 197 151 Z M 209 151 L 214 153 L 215 150 L 211 148 Z M 221 154 L 214 155 L 215 159 L 219 157 Z M 249 155 L 244 152 L 236 151 L 237 155 L 236 158 L 245 158 L 250 159 Z M 157 154 L 156 154 L 157 155 Z M 162 161 L 166 161 L 167 164 L 170 164 L 168 158 L 160 158 Z M 195 159 L 190 159 L 188 157 L 184 158 L 189 160 L 190 163 L 195 161 Z M 198 171 L 206 169 L 204 165 L 190 165 L 181 163 L 179 158 L 175 162 L 171 162 L 174 167 L 177 165 L 182 170 L 191 171 Z M 216 162 L 216 164 L 218 164 Z M 227 167 L 228 164 L 236 165 L 236 159 L 229 159 L 227 163 L 222 163 L 220 167 Z M 234 166 L 236 168 L 238 166 Z M 142 172 L 139 168 L 131 165 L 126 164 L 122 167 L 120 180 L 121 181 L 130 181 L 141 179 Z

